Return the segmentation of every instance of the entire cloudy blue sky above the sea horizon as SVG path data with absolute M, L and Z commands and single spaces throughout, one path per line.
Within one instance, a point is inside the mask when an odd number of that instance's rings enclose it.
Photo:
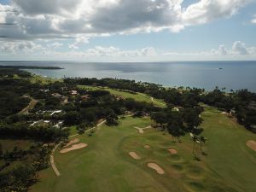
M 0 61 L 256 60 L 256 0 L 0 0 Z

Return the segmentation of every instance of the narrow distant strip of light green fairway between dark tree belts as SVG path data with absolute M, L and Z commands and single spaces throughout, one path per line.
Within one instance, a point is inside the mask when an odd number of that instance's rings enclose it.
M 80 89 L 86 90 L 108 90 L 114 96 L 123 96 L 124 98 L 132 98 L 137 102 L 152 102 L 151 97 L 142 93 L 129 93 L 121 90 L 113 90 L 108 87 L 96 87 L 96 86 L 89 86 L 89 85 L 78 85 Z M 166 102 L 160 99 L 154 99 L 154 105 L 159 106 L 160 108 L 166 107 Z

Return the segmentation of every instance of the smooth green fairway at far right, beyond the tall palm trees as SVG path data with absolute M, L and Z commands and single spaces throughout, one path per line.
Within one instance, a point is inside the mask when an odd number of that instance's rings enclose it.
M 246 145 L 247 140 L 256 141 L 256 135 L 216 109 L 206 108 L 202 118 L 209 138 L 207 166 L 241 191 L 256 191 L 256 152 Z

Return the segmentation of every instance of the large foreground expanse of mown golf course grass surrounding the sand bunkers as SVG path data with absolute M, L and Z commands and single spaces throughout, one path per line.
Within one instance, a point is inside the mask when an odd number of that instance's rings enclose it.
M 202 118 L 208 140 L 203 145 L 207 155 L 196 146 L 200 161 L 194 159 L 189 135 L 182 143 L 172 143 L 165 131 L 137 132 L 134 126 L 146 127 L 152 124 L 150 119 L 119 119 L 117 127 L 102 125 L 92 137 L 79 136 L 89 144 L 87 148 L 67 154 L 56 151 L 61 177 L 55 177 L 50 168 L 44 170 L 32 191 L 256 191 L 256 153 L 246 145 L 247 140 L 256 140 L 255 135 L 214 108 L 206 108 Z M 176 149 L 177 154 L 170 154 L 168 148 Z M 132 159 L 131 151 L 142 159 Z M 148 162 L 158 164 L 165 174 L 148 168 Z

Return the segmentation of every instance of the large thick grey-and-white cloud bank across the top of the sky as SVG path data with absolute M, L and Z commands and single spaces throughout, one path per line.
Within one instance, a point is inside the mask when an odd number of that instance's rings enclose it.
M 12 0 L 0 9 L 5 39 L 88 38 L 105 34 L 179 32 L 186 26 L 230 17 L 250 0 L 201 0 L 187 8 L 183 0 Z M 81 41 L 73 44 L 79 47 Z M 71 45 L 72 46 L 72 45 Z

